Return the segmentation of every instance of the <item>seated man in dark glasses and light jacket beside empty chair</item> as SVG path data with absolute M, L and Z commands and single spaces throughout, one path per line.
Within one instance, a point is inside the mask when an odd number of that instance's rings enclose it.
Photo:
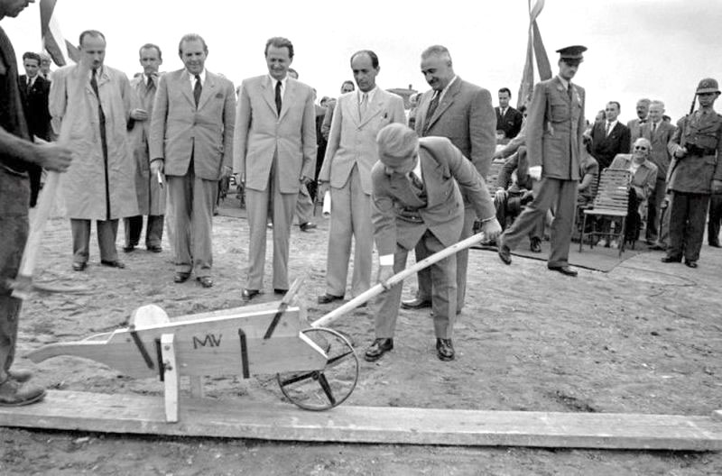
M 649 160 L 652 151 L 652 144 L 649 139 L 640 137 L 634 141 L 631 154 L 617 154 L 612 160 L 609 169 L 629 170 L 629 205 L 625 225 L 625 242 L 634 243 L 639 237 L 641 217 L 638 211 L 639 205 L 643 204 L 652 195 L 657 180 L 657 166 Z M 605 243 L 603 243 L 605 242 Z M 604 246 L 606 240 L 600 240 L 599 245 Z M 618 247 L 618 243 L 610 243 L 612 248 Z

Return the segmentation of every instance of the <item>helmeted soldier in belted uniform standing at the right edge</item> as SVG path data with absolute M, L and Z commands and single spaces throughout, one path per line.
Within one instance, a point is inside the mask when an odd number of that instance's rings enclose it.
M 722 192 L 722 115 L 714 109 L 717 80 L 705 78 L 697 87 L 699 110 L 680 119 L 671 138 L 672 163 L 670 247 L 662 262 L 680 262 L 697 268 L 705 231 L 710 193 Z

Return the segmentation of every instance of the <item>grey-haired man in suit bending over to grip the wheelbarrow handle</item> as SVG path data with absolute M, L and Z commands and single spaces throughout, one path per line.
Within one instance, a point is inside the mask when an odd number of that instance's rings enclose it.
M 415 247 L 430 255 L 458 242 L 464 224 L 464 190 L 482 232 L 494 240 L 501 232 L 484 180 L 474 165 L 448 139 L 425 137 L 403 124 L 386 125 L 376 136 L 379 161 L 371 170 L 372 220 L 379 254 L 378 282 L 384 284 L 406 266 Z M 431 307 L 437 354 L 454 359 L 451 335 L 457 307 L 456 256 L 431 265 Z M 393 332 L 399 314 L 403 284 L 380 298 L 375 316 L 375 341 L 366 361 L 393 349 Z

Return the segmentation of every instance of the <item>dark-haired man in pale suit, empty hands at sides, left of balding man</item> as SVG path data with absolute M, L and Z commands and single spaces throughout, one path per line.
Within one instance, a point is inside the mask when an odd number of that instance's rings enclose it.
M 273 216 L 273 290 L 288 288 L 288 252 L 293 211 L 301 184 L 313 180 L 316 166 L 316 109 L 313 89 L 289 78 L 293 44 L 266 41 L 268 74 L 241 85 L 236 114 L 234 169 L 245 183 L 250 243 L 248 276 L 242 298 L 264 285 L 265 233 Z

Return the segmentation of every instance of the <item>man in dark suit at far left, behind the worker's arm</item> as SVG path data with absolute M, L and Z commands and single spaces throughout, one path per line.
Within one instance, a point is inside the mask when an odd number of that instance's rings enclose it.
M 48 95 L 51 91 L 50 81 L 38 74 L 41 58 L 38 53 L 28 51 L 23 54 L 23 68 L 25 74 L 18 78 L 20 97 L 23 100 L 23 113 L 28 123 L 28 133 L 31 138 L 37 137 L 43 141 L 51 140 L 51 114 L 48 111 Z M 40 193 L 42 169 L 31 166 L 30 175 L 30 206 L 35 206 Z

